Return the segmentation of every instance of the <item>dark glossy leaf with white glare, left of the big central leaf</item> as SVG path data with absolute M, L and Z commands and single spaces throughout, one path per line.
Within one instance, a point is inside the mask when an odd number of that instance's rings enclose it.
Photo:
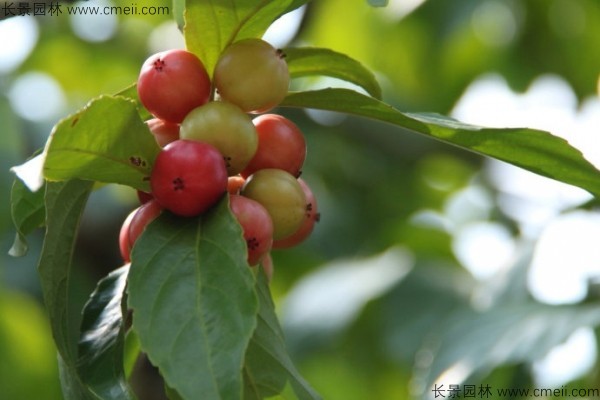
M 90 390 L 106 400 L 134 398 L 123 366 L 128 272 L 125 265 L 101 279 L 83 309 L 77 370 Z

